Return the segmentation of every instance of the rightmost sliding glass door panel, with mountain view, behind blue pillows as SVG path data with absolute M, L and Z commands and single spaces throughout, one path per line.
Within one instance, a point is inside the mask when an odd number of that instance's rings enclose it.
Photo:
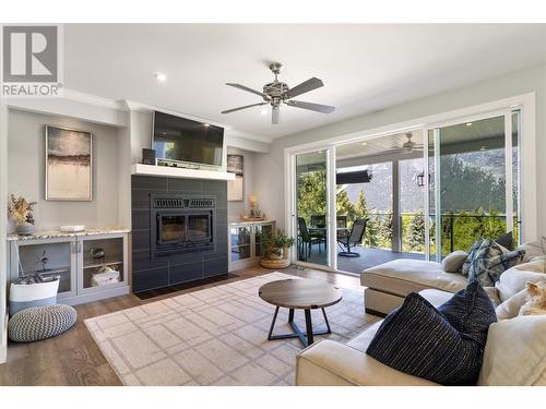
M 428 252 L 440 261 L 480 238 L 519 240 L 519 111 L 428 132 Z

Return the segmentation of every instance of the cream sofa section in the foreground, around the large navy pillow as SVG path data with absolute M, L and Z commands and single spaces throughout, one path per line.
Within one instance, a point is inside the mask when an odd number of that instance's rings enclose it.
M 432 305 L 451 298 L 450 292 L 419 292 Z M 438 386 L 434 382 L 399 372 L 366 354 L 381 322 L 348 344 L 323 339 L 297 357 L 298 386 Z M 546 385 L 546 315 L 501 320 L 489 327 L 480 386 Z

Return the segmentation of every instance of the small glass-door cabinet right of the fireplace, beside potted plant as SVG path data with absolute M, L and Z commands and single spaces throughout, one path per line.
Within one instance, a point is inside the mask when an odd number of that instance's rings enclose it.
M 229 224 L 229 272 L 257 265 L 262 254 L 262 239 L 272 234 L 275 221 Z

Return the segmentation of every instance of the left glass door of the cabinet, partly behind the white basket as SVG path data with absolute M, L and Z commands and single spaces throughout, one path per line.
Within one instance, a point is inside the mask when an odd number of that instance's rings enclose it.
M 60 298 L 75 291 L 72 248 L 73 241 L 33 242 L 16 244 L 19 250 L 19 277 L 39 274 L 44 280 L 59 278 L 58 294 Z M 13 277 L 16 280 L 17 277 Z

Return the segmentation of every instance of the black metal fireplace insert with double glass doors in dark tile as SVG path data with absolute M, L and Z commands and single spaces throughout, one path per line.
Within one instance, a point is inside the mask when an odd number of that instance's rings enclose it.
M 151 196 L 152 260 L 214 250 L 214 197 Z

